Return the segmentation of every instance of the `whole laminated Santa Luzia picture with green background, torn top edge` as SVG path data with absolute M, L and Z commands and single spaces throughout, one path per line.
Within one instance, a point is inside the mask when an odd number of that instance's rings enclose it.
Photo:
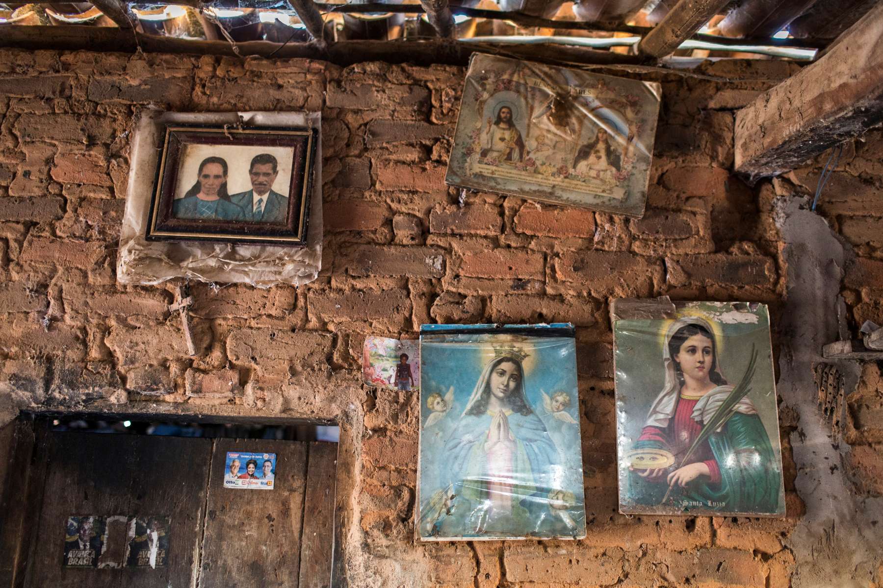
M 766 306 L 623 299 L 611 320 L 620 512 L 784 516 Z

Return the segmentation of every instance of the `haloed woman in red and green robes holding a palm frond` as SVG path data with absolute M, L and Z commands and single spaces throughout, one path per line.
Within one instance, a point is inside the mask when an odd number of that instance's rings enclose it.
M 711 324 L 698 316 L 671 324 L 662 363 L 665 384 L 630 454 L 661 450 L 656 455 L 668 456 L 671 465 L 630 466 L 631 499 L 662 506 L 668 494 L 666 505 L 680 509 L 776 512 L 781 467 L 751 398 L 739 399 L 732 416 L 688 456 L 706 421 L 735 388 L 721 372 Z

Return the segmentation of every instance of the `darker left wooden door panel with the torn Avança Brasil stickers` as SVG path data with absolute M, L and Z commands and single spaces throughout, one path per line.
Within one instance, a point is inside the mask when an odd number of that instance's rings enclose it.
M 28 585 L 190 586 L 200 542 L 212 441 L 147 435 L 52 433 Z M 156 569 L 62 565 L 71 516 L 170 517 L 168 562 Z

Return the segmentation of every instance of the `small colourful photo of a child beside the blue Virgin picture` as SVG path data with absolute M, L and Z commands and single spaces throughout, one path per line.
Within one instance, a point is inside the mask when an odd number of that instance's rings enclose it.
M 376 388 L 419 390 L 419 342 L 366 337 L 362 348 L 362 378 L 366 385 Z

